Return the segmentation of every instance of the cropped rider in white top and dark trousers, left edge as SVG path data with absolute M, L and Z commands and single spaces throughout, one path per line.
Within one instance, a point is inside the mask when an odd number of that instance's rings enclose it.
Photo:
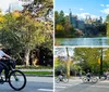
M 2 70 L 5 69 L 2 62 L 5 61 L 5 58 L 11 58 L 10 55 L 5 54 L 5 53 L 2 51 L 2 48 L 3 48 L 2 44 L 0 44 L 0 79 L 1 79 L 1 73 L 2 73 Z M 4 74 L 7 74 L 7 73 L 8 73 L 8 71 L 4 70 Z

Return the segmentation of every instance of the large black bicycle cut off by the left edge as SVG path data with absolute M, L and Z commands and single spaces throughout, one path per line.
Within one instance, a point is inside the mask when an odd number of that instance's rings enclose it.
M 0 83 L 9 82 L 10 87 L 15 91 L 24 89 L 26 86 L 26 77 L 21 70 L 15 69 L 14 60 L 2 60 L 0 64 L 4 67 L 4 76 L 1 76 Z

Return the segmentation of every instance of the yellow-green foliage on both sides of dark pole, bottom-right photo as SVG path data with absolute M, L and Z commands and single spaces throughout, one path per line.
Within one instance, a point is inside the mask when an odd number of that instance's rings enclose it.
M 102 53 L 101 53 L 102 50 Z M 94 73 L 99 73 L 100 62 L 102 56 L 102 70 L 109 69 L 109 49 L 104 48 L 75 48 L 74 57 L 76 61 L 80 61 L 80 66 L 83 70 L 90 69 Z

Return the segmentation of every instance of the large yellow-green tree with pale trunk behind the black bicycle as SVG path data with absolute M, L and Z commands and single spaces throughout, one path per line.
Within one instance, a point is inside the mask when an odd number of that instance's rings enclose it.
M 52 50 L 53 22 L 48 18 L 48 11 L 52 10 L 52 4 L 50 4 L 52 1 L 47 2 L 47 0 L 39 2 L 44 5 L 35 11 L 34 16 L 32 15 L 34 9 L 29 10 L 27 6 L 21 13 L 7 13 L 3 16 L 4 22 L 1 23 L 1 42 L 11 49 L 16 48 L 16 52 L 24 51 L 26 65 L 29 65 L 29 53 L 36 45 L 45 44 Z M 45 16 L 45 21 L 40 18 L 43 16 Z

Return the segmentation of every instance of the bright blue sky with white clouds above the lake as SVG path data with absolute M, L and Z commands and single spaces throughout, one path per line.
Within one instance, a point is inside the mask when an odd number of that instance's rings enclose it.
M 104 21 L 107 14 L 109 14 L 109 0 L 56 0 L 55 10 L 61 11 L 68 15 L 72 11 L 72 14 L 76 14 L 80 18 L 85 18 L 86 15 L 90 15 L 93 18 L 101 16 Z

